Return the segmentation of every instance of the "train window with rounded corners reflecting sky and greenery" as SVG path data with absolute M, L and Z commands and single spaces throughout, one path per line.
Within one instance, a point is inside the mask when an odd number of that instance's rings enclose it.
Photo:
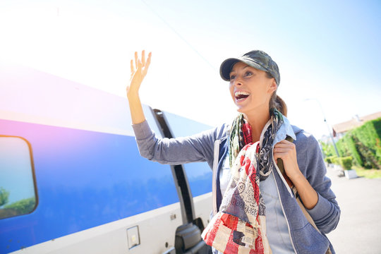
M 30 145 L 0 135 L 0 219 L 32 212 L 37 204 Z

